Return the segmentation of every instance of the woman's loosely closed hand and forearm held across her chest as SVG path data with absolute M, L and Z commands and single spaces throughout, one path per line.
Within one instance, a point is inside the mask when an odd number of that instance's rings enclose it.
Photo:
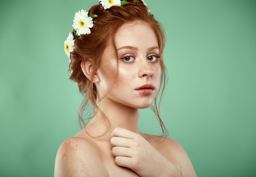
M 115 128 L 110 144 L 115 163 L 132 169 L 141 177 L 182 177 L 170 161 L 137 133 Z

